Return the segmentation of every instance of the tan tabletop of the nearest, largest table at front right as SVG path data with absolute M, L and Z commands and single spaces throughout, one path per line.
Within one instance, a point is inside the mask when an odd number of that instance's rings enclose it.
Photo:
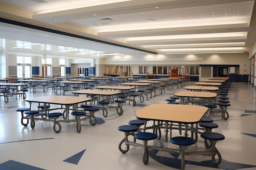
M 194 124 L 207 110 L 207 107 L 196 105 L 152 104 L 135 111 L 135 114 L 139 119 Z

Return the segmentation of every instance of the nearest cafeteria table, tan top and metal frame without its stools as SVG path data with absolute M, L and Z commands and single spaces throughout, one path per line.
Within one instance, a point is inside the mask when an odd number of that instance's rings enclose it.
M 171 111 L 170 111 L 171 110 Z M 204 117 L 205 113 L 207 113 L 208 108 L 203 106 L 195 106 L 195 105 L 176 105 L 176 104 L 152 104 L 141 108 L 135 111 L 135 115 L 138 119 L 145 120 L 145 127 L 147 121 L 159 121 L 159 122 L 169 122 L 184 124 L 185 125 L 185 136 L 187 135 L 187 131 L 189 130 L 189 124 L 197 124 L 200 122 L 202 117 Z M 149 129 L 150 127 L 146 127 L 145 129 Z M 153 128 L 153 127 L 152 127 Z M 168 130 L 168 129 L 167 129 Z M 131 133 L 131 135 L 134 135 Z M 122 144 L 125 144 L 127 147 L 123 149 L 121 147 Z M 145 144 L 145 143 L 144 143 Z M 119 150 L 122 153 L 126 153 L 129 150 L 129 146 L 138 146 L 144 148 L 144 144 L 139 144 L 136 141 L 129 141 L 128 137 L 125 137 L 119 143 Z M 155 149 L 161 150 L 164 152 L 176 152 L 181 153 L 180 150 L 173 148 L 166 148 L 164 146 L 147 146 L 147 149 Z M 144 152 L 144 155 L 148 154 L 148 152 Z M 220 152 L 213 147 L 211 150 L 196 150 L 193 152 L 185 152 L 184 155 L 204 155 L 211 156 L 213 163 L 216 165 L 219 164 L 222 160 Z M 181 161 L 181 167 L 184 170 L 185 159 L 184 155 Z M 218 156 L 218 161 L 216 161 L 215 156 Z M 143 162 L 147 163 L 148 157 L 143 156 Z

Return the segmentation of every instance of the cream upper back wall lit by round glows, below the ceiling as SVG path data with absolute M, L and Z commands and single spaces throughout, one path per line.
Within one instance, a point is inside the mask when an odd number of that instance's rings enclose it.
M 133 73 L 138 72 L 138 66 L 186 66 L 199 64 L 240 65 L 240 74 L 249 74 L 249 53 L 216 53 L 216 54 L 169 54 L 129 56 L 115 55 L 100 60 L 105 65 L 133 65 Z M 150 67 L 149 67 L 150 68 Z M 245 71 L 244 71 L 245 70 Z M 152 70 L 148 70 L 152 73 Z

